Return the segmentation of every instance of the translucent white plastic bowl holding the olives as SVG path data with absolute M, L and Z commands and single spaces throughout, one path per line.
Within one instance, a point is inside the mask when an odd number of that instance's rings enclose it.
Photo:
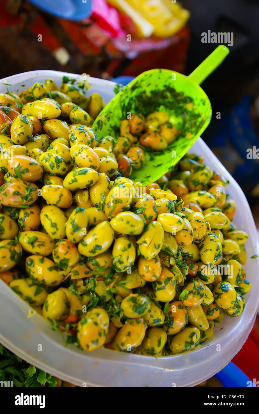
M 78 77 L 52 70 L 25 72 L 2 79 L 0 92 L 6 91 L 4 83 L 12 85 L 8 86 L 9 90 L 21 91 L 49 77 L 60 85 L 64 75 Z M 106 103 L 113 98 L 113 82 L 96 78 L 90 78 L 90 82 L 89 95 L 97 92 Z M 25 87 L 20 87 L 24 84 Z M 85 352 L 74 345 L 64 347 L 61 335 L 37 313 L 29 316 L 31 308 L 0 280 L 0 342 L 4 346 L 38 368 L 79 386 L 194 386 L 220 371 L 235 356 L 252 330 L 259 302 L 259 261 L 250 259 L 252 255 L 259 255 L 257 229 L 244 193 L 201 138 L 191 152 L 203 156 L 206 164 L 228 178 L 227 192 L 237 202 L 234 223 L 249 234 L 245 269 L 252 289 L 245 295 L 246 306 L 241 317 L 225 316 L 209 342 L 184 354 L 155 359 L 104 348 Z M 42 351 L 38 351 L 39 344 Z

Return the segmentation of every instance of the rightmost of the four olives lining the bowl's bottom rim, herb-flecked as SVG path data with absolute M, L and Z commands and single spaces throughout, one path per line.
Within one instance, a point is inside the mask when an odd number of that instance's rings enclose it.
M 201 332 L 197 327 L 186 327 L 176 334 L 170 342 L 170 349 L 173 354 L 191 351 L 199 345 Z

